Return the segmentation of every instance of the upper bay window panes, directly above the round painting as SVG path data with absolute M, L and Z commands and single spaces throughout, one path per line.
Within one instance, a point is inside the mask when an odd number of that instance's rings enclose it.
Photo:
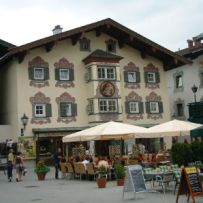
M 98 79 L 115 80 L 115 67 L 98 67 Z

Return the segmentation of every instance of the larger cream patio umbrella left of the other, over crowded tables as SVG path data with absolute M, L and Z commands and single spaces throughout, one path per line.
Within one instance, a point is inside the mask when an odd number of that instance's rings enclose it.
M 109 121 L 63 137 L 63 142 L 80 142 L 90 140 L 130 139 L 147 129 L 140 126 Z M 139 135 L 140 137 L 140 135 Z

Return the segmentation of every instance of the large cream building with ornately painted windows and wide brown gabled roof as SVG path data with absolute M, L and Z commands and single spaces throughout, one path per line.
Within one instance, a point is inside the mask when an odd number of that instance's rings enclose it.
M 57 29 L 57 30 L 56 30 Z M 109 120 L 170 120 L 165 71 L 189 61 L 105 19 L 16 47 L 0 61 L 1 115 L 47 156 L 61 137 Z M 29 118 L 25 130 L 21 117 Z

